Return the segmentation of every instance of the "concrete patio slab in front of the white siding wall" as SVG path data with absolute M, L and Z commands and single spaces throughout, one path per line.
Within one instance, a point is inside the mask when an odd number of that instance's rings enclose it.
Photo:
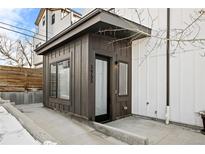
M 190 128 L 130 116 L 106 125 L 146 136 L 149 144 L 205 144 L 205 135 Z

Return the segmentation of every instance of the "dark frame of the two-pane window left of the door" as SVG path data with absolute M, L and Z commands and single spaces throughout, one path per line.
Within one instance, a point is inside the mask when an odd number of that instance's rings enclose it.
M 63 62 L 63 61 L 68 61 L 69 62 L 69 68 L 70 68 L 70 73 L 69 73 L 69 76 L 70 76 L 70 85 L 69 85 L 69 99 L 63 99 L 63 98 L 59 98 L 58 97 L 58 63 L 60 62 Z M 58 60 L 58 61 L 55 61 L 55 62 L 52 62 L 49 64 L 49 71 L 51 71 L 51 65 L 52 64 L 55 64 L 56 66 L 56 96 L 51 96 L 50 95 L 50 91 L 51 91 L 51 84 L 50 84 L 50 81 L 51 81 L 51 77 L 50 77 L 50 72 L 49 72 L 49 97 L 51 98 L 55 98 L 55 99 L 61 99 L 61 100 L 65 100 L 65 101 L 70 101 L 71 100 L 71 60 L 70 58 L 66 58 L 66 59 L 62 59 L 62 60 Z

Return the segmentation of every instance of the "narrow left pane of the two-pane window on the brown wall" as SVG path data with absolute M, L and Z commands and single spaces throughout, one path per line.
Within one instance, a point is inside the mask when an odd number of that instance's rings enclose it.
M 50 66 L 50 96 L 56 97 L 56 64 Z

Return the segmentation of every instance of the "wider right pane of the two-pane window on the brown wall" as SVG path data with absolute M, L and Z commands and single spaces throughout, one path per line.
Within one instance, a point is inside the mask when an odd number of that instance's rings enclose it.
M 70 66 L 68 60 L 58 63 L 58 98 L 70 99 Z

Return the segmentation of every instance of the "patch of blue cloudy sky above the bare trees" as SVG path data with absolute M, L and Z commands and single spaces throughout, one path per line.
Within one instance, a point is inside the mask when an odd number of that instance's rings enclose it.
M 83 11 L 83 9 L 81 8 L 73 8 L 73 9 L 79 13 L 82 13 Z M 9 8 L 9 9 L 0 8 L 0 34 L 7 35 L 13 38 L 14 40 L 19 38 L 24 38 L 23 35 L 17 34 L 15 32 L 10 32 L 8 30 L 4 30 L 1 28 L 1 27 L 6 27 L 9 29 L 27 33 L 29 35 L 33 35 L 32 33 L 7 26 L 5 24 L 2 24 L 1 22 L 35 31 L 34 23 L 38 16 L 39 11 L 40 8 Z

